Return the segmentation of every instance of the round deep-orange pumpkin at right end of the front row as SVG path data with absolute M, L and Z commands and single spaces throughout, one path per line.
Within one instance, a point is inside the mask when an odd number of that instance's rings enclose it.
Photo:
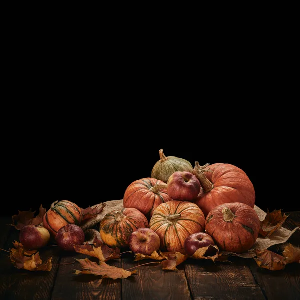
M 224 203 L 214 207 L 205 220 L 205 232 L 220 250 L 245 253 L 255 243 L 260 228 L 256 211 L 240 202 Z

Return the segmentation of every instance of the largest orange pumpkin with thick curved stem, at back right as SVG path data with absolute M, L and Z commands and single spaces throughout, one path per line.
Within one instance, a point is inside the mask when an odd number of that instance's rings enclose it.
M 208 163 L 200 166 L 196 161 L 192 171 L 201 183 L 200 193 L 193 203 L 201 208 L 205 217 L 212 208 L 223 203 L 241 202 L 254 208 L 254 186 L 243 170 L 228 163 L 208 166 Z

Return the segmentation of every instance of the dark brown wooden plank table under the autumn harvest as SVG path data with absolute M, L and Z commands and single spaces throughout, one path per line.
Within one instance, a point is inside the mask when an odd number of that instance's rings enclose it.
M 293 229 L 300 220 L 300 212 L 292 212 L 284 223 Z M 294 222 L 296 221 L 296 222 Z M 0 218 L 0 248 L 12 248 L 19 231 L 7 225 L 11 218 Z M 299 246 L 300 230 L 290 242 Z M 126 279 L 99 280 L 93 275 L 76 275 L 81 270 L 74 259 L 85 254 L 69 254 L 57 246 L 40 251 L 42 257 L 52 256 L 51 271 L 30 272 L 15 268 L 9 253 L 0 251 L 0 300 L 58 300 L 58 299 L 300 299 L 300 266 L 291 263 L 284 270 L 259 268 L 253 258 L 231 257 L 231 262 L 187 259 L 178 271 L 164 271 L 160 264 L 139 267 L 139 272 Z M 133 254 L 107 263 L 124 269 L 153 262 L 133 262 Z

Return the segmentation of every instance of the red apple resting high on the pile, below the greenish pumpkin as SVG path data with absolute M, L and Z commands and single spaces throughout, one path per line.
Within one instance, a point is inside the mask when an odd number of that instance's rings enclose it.
M 201 183 L 191 172 L 174 172 L 167 180 L 166 191 L 173 199 L 192 202 L 201 189 Z

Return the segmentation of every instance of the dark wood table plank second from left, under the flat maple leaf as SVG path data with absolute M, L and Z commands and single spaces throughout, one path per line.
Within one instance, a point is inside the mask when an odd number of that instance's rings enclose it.
M 89 274 L 74 274 L 74 269 L 82 270 L 76 259 L 89 258 L 97 261 L 95 257 L 80 253 L 67 253 L 60 251 L 60 265 L 52 293 L 51 300 L 67 299 L 121 299 L 121 279 L 99 279 L 99 276 Z M 71 263 L 71 264 L 69 264 Z M 121 266 L 121 259 L 107 261 L 107 264 Z

